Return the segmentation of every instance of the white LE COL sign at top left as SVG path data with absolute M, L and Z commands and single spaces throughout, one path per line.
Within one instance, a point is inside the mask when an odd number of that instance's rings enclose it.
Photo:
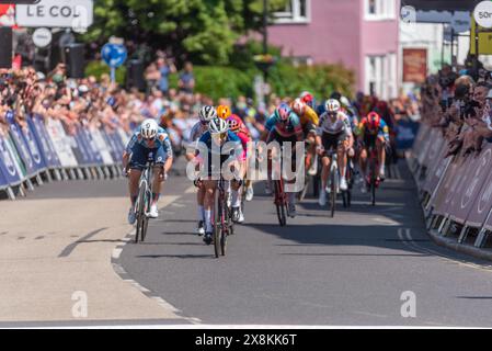
M 92 0 L 41 0 L 36 4 L 18 4 L 15 20 L 25 27 L 88 29 L 94 20 Z

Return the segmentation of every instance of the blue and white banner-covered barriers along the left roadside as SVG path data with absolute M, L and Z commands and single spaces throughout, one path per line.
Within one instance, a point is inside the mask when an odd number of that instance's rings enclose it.
M 129 136 L 123 129 L 78 125 L 69 133 L 59 120 L 27 115 L 22 127 L 13 112 L 0 129 L 0 192 L 11 200 L 44 181 L 121 177 Z

